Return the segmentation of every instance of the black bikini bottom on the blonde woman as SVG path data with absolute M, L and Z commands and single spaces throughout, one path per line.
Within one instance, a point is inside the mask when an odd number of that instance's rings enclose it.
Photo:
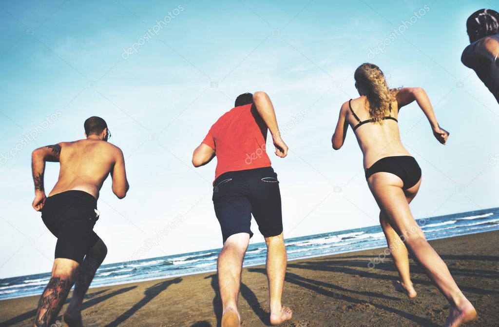
M 421 168 L 416 159 L 410 155 L 386 156 L 379 159 L 366 169 L 366 179 L 381 171 L 399 176 L 404 182 L 404 189 L 411 188 L 421 179 Z

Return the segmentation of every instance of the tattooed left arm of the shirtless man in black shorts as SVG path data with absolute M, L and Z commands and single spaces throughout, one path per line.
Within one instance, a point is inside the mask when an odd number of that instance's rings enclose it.
M 31 172 L 34 182 L 34 200 L 31 206 L 40 211 L 45 203 L 45 187 L 43 175 L 45 174 L 45 162 L 58 162 L 62 143 L 42 146 L 31 152 Z

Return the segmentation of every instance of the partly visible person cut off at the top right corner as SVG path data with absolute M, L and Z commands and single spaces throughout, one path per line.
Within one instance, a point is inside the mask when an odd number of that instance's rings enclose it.
M 475 70 L 499 103 L 499 12 L 475 11 L 466 28 L 471 44 L 464 49 L 461 61 Z

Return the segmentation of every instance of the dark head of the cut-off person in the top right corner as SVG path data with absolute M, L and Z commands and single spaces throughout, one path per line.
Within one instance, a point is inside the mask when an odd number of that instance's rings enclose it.
M 466 20 L 466 31 L 472 43 L 487 35 L 499 34 L 499 12 L 493 9 L 475 11 Z

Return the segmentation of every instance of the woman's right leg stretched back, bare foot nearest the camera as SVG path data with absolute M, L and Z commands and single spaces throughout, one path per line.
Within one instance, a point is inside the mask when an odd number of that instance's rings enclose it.
M 451 314 L 446 325 L 457 326 L 473 319 L 476 316 L 475 308 L 461 292 L 447 265 L 414 220 L 401 182 L 394 174 L 378 172 L 369 178 L 369 187 L 393 229 L 451 303 Z

